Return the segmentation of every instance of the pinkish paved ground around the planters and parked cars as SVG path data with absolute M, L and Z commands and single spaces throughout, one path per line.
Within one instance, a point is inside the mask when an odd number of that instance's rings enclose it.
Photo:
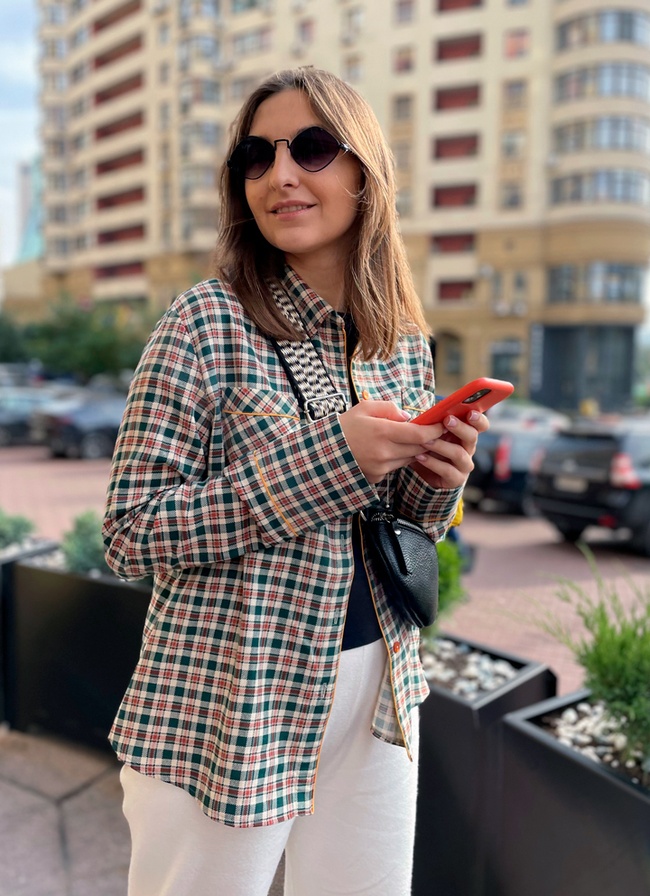
M 107 475 L 108 461 L 0 449 L 0 507 L 29 516 L 39 535 L 58 540 L 77 514 L 101 512 Z M 559 693 L 579 688 L 582 673 L 568 649 L 524 614 L 531 595 L 546 601 L 550 590 L 531 580 L 531 565 L 573 574 L 574 552 L 558 546 L 541 520 L 490 525 L 468 514 L 461 531 L 478 546 L 477 563 L 465 579 L 471 600 L 445 631 L 546 662 Z M 647 578 L 647 559 L 626 561 L 633 576 Z M 126 896 L 129 832 L 118 776 L 108 750 L 0 727 L 0 896 Z M 269 896 L 281 893 L 279 869 Z

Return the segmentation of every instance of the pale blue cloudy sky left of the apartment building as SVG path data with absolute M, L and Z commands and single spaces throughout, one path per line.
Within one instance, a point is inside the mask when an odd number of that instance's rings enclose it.
M 0 0 L 0 266 L 18 251 L 18 165 L 38 150 L 36 9 Z

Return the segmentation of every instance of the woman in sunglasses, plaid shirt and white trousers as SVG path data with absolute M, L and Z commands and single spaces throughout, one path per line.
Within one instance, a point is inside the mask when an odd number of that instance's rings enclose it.
M 389 487 L 442 537 L 487 421 L 408 422 L 433 402 L 426 326 L 390 153 L 348 85 L 262 84 L 221 194 L 219 278 L 155 329 L 109 486 L 111 567 L 155 576 L 112 732 L 129 893 L 262 896 L 285 852 L 286 893 L 406 896 L 428 688 L 359 513 Z M 304 335 L 346 410 L 301 410 L 273 339 Z

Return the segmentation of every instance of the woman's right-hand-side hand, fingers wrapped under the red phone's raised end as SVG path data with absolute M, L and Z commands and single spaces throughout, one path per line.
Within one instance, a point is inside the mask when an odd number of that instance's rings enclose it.
M 418 454 L 410 465 L 434 488 L 458 488 L 474 469 L 472 457 L 478 434 L 485 432 L 490 424 L 485 414 L 471 411 L 467 422 L 449 416 L 445 417 L 443 426 L 444 434 L 428 443 L 426 451 Z

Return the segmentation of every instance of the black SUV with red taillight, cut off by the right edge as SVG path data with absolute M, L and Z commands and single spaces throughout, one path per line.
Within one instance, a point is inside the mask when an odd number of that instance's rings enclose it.
M 650 415 L 580 422 L 558 433 L 538 459 L 532 499 L 566 541 L 587 526 L 629 529 L 650 556 Z

